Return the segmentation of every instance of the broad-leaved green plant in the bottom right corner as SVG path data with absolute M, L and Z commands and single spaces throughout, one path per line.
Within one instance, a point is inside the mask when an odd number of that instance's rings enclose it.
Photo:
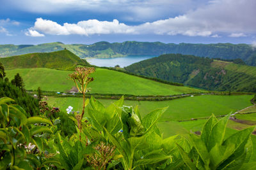
M 250 138 L 255 127 L 238 131 L 225 139 L 230 115 L 218 120 L 214 115 L 205 123 L 202 134 L 191 134 L 191 149 L 186 152 L 178 146 L 182 160 L 189 169 L 254 169 L 248 163 L 252 155 Z M 176 167 L 177 168 L 177 167 Z

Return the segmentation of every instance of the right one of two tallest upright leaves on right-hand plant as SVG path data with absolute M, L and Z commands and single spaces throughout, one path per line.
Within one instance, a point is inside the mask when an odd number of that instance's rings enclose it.
M 223 139 L 225 137 L 225 131 L 226 126 L 228 122 L 228 118 L 230 117 L 230 114 L 221 118 L 213 127 L 211 134 L 209 136 L 209 142 L 208 142 L 208 151 L 211 150 L 212 147 L 214 147 L 217 143 L 221 145 L 223 142 Z

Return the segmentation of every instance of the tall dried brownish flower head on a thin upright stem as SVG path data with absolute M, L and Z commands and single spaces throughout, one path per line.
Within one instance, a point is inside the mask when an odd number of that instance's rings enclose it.
M 76 84 L 76 87 L 79 90 L 79 92 L 83 94 L 83 111 L 81 116 L 76 117 L 78 120 L 77 124 L 80 132 L 82 131 L 82 119 L 84 117 L 84 108 L 86 106 L 86 102 L 85 102 L 86 88 L 88 83 L 93 81 L 93 78 L 90 78 L 89 75 L 94 71 L 95 71 L 94 67 L 77 67 L 74 73 L 68 75 L 70 77 L 70 80 L 73 80 L 74 83 Z M 80 136 L 80 139 L 81 139 L 81 136 Z

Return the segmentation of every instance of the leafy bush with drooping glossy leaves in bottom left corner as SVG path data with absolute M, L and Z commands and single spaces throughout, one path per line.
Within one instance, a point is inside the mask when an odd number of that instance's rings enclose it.
M 13 99 L 0 99 L 0 169 L 40 169 L 45 162 L 44 146 L 51 135 L 52 122 L 29 117 Z

